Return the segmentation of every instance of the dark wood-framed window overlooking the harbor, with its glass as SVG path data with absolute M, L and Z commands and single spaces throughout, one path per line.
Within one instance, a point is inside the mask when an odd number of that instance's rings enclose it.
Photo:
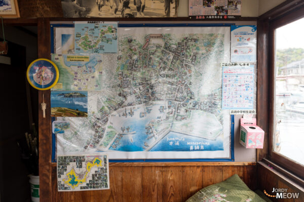
M 304 179 L 304 13 L 270 23 L 273 56 L 271 159 Z

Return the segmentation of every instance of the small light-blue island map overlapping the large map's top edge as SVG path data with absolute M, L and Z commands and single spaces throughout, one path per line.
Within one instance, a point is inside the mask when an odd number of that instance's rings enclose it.
M 117 53 L 117 23 L 75 22 L 75 53 Z

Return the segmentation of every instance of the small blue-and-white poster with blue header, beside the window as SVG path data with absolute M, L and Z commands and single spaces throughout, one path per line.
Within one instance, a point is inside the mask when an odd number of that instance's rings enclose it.
M 256 25 L 231 26 L 231 62 L 256 62 Z

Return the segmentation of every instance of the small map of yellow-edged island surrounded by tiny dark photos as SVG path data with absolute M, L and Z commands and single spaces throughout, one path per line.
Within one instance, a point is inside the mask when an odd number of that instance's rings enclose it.
M 109 189 L 107 155 L 57 156 L 58 191 Z

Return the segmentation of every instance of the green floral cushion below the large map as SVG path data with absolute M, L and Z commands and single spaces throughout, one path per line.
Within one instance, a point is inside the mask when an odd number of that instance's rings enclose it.
M 236 174 L 230 178 L 199 190 L 186 202 L 265 202 Z

